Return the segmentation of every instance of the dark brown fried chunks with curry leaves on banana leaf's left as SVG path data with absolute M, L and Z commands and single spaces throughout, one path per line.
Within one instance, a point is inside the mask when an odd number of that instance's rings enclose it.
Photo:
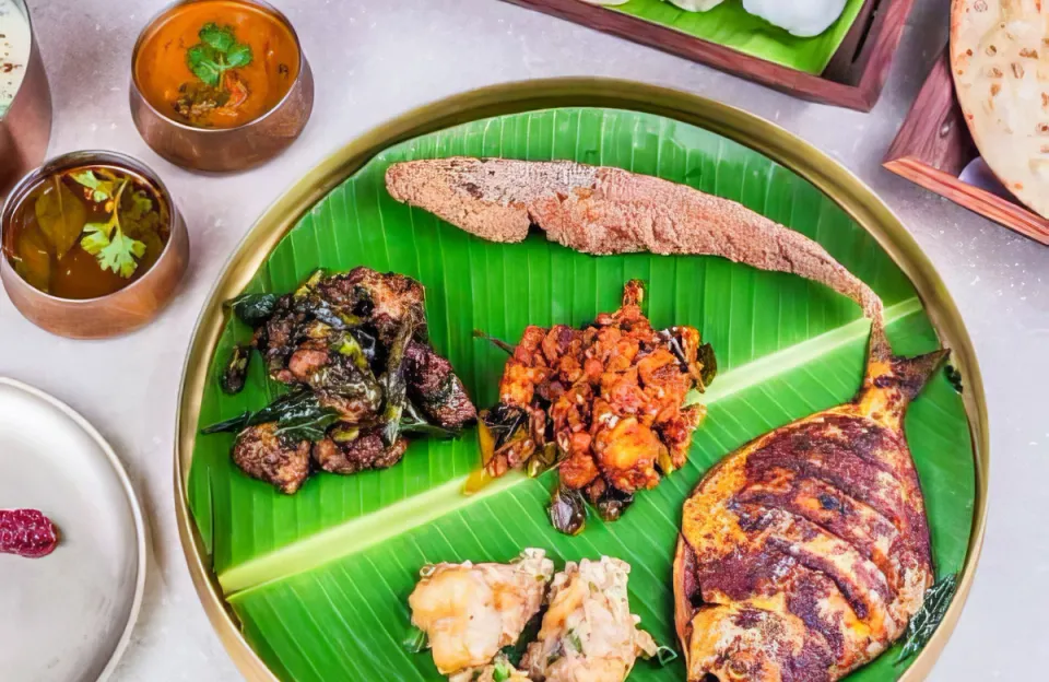
M 411 436 L 450 437 L 476 419 L 451 364 L 431 348 L 422 284 L 369 268 L 315 272 L 291 294 L 229 306 L 251 346 L 291 391 L 204 433 L 235 432 L 233 461 L 294 494 L 315 470 L 350 474 L 398 463 Z M 239 392 L 251 346 L 236 346 L 222 389 Z

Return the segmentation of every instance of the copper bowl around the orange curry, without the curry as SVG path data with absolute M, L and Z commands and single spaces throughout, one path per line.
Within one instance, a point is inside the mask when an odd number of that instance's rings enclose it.
M 160 111 L 142 94 L 138 82 L 139 50 L 156 26 L 184 5 L 210 0 L 180 0 L 154 16 L 139 34 L 131 52 L 131 118 L 145 143 L 175 165 L 195 170 L 244 170 L 269 161 L 294 142 L 314 109 L 314 74 L 298 34 L 287 17 L 261 0 L 233 0 L 260 9 L 287 27 L 298 49 L 298 75 L 284 97 L 269 111 L 235 128 L 196 128 Z

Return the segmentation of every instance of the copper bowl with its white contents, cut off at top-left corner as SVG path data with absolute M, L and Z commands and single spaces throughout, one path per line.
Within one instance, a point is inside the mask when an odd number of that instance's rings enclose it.
M 51 93 L 24 0 L 0 0 L 0 200 L 44 161 Z

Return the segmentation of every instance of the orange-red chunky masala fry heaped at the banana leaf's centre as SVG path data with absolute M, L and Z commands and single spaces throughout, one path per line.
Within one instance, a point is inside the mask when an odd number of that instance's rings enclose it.
M 634 493 L 685 463 L 706 412 L 685 403 L 714 378 L 710 346 L 693 327 L 652 329 L 643 297 L 633 280 L 622 307 L 584 329 L 528 327 L 506 363 L 498 405 L 482 414 L 487 477 L 557 466 L 558 530 L 581 530 L 580 493 L 603 518 L 618 518 Z

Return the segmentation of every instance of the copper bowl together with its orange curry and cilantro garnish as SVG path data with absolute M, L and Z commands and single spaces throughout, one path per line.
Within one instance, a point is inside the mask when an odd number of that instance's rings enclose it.
M 131 117 L 172 163 L 232 172 L 280 154 L 305 128 L 314 78 L 287 19 L 260 0 L 182 0 L 131 57 Z

